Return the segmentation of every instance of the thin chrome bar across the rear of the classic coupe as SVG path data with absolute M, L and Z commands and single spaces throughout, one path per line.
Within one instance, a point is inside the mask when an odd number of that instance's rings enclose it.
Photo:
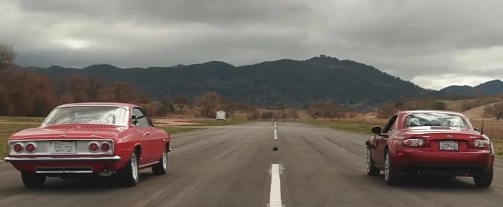
M 53 162 L 53 161 L 120 161 L 121 157 L 6 157 L 6 162 Z

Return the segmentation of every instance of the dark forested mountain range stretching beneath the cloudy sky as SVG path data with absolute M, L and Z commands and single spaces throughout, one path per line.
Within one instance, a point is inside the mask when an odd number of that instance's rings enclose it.
M 234 101 L 267 108 L 303 107 L 322 101 L 375 106 L 400 99 L 503 93 L 503 81 L 500 80 L 475 87 L 449 86 L 429 90 L 373 66 L 326 55 L 302 61 L 280 59 L 238 67 L 222 61 L 209 61 L 172 67 L 118 68 L 96 64 L 86 68 L 50 66 L 29 67 L 28 70 L 49 77 L 99 75 L 110 81 L 128 81 L 154 99 L 173 95 L 196 97 L 205 91 L 216 91 Z

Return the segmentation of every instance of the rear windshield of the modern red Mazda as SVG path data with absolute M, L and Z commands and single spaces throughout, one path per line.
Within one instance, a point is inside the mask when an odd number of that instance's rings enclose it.
M 470 128 L 466 120 L 459 115 L 449 113 L 412 113 L 404 122 L 404 127 L 448 126 L 453 128 Z

